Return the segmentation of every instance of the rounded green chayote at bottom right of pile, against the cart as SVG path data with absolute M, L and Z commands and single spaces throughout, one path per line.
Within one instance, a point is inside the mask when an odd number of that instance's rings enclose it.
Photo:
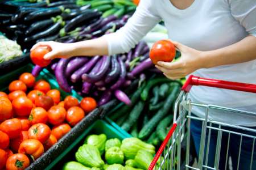
M 153 155 L 144 150 L 139 150 L 134 158 L 137 167 L 144 170 L 148 169 L 153 159 Z

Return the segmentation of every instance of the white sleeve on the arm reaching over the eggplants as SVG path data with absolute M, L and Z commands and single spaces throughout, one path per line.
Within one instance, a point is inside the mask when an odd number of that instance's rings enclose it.
M 161 19 L 155 11 L 152 0 L 141 0 L 125 26 L 104 36 L 108 41 L 109 55 L 128 52 L 134 48 L 142 37 L 160 22 Z

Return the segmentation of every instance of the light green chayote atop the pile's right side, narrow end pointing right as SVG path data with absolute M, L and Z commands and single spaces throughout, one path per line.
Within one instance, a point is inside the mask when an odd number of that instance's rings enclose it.
M 146 150 L 151 154 L 155 154 L 155 147 L 141 141 L 138 138 L 126 138 L 123 139 L 121 150 L 125 154 L 126 159 L 134 159 L 138 150 Z

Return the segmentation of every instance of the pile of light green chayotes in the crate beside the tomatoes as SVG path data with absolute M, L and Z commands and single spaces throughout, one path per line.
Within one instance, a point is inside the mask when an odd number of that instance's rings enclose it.
M 76 161 L 66 163 L 63 170 L 146 170 L 154 154 L 155 147 L 138 138 L 126 138 L 121 142 L 117 138 L 107 139 L 105 134 L 92 134 L 74 155 Z

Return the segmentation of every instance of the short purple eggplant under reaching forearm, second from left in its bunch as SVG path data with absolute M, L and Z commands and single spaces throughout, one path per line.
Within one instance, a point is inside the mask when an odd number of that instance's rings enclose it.
M 65 74 L 67 78 L 71 76 L 74 71 L 80 69 L 81 66 L 85 65 L 89 58 L 87 57 L 73 57 L 71 61 L 69 61 Z

